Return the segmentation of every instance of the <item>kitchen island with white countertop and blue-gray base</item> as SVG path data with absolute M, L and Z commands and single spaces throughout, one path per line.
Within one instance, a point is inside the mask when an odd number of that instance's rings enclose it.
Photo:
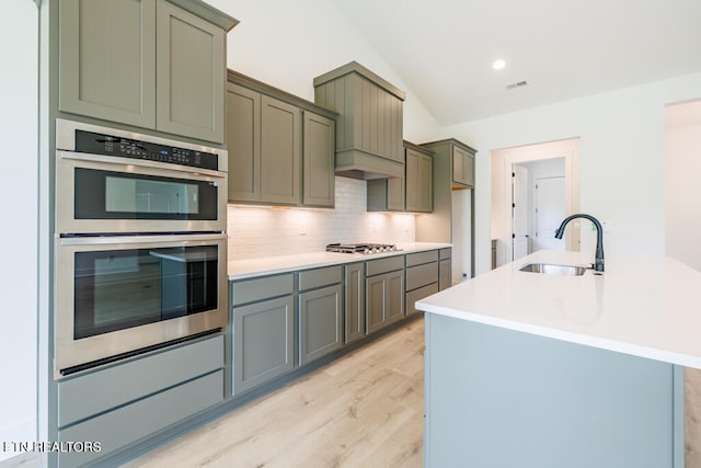
M 668 258 L 538 252 L 420 300 L 425 466 L 683 467 L 701 274 Z

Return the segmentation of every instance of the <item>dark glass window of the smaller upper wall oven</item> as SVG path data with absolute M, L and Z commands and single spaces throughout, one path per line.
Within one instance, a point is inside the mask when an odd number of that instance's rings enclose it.
M 74 169 L 76 219 L 217 220 L 218 184 Z

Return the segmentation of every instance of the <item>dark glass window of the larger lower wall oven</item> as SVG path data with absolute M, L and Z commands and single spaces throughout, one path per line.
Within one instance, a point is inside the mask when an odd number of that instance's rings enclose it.
M 215 310 L 217 246 L 76 252 L 73 339 Z

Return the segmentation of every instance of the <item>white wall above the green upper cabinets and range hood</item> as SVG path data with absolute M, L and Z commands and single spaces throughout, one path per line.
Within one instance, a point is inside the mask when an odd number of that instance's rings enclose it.
M 229 68 L 313 102 L 314 77 L 355 60 L 406 92 L 405 139 L 436 139 L 438 123 L 332 2 L 207 2 L 241 22 L 228 36 Z

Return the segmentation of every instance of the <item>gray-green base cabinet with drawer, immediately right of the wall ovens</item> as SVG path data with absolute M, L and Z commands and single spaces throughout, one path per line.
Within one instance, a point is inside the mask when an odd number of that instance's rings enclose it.
M 231 284 L 234 397 L 295 368 L 294 292 L 291 273 Z

